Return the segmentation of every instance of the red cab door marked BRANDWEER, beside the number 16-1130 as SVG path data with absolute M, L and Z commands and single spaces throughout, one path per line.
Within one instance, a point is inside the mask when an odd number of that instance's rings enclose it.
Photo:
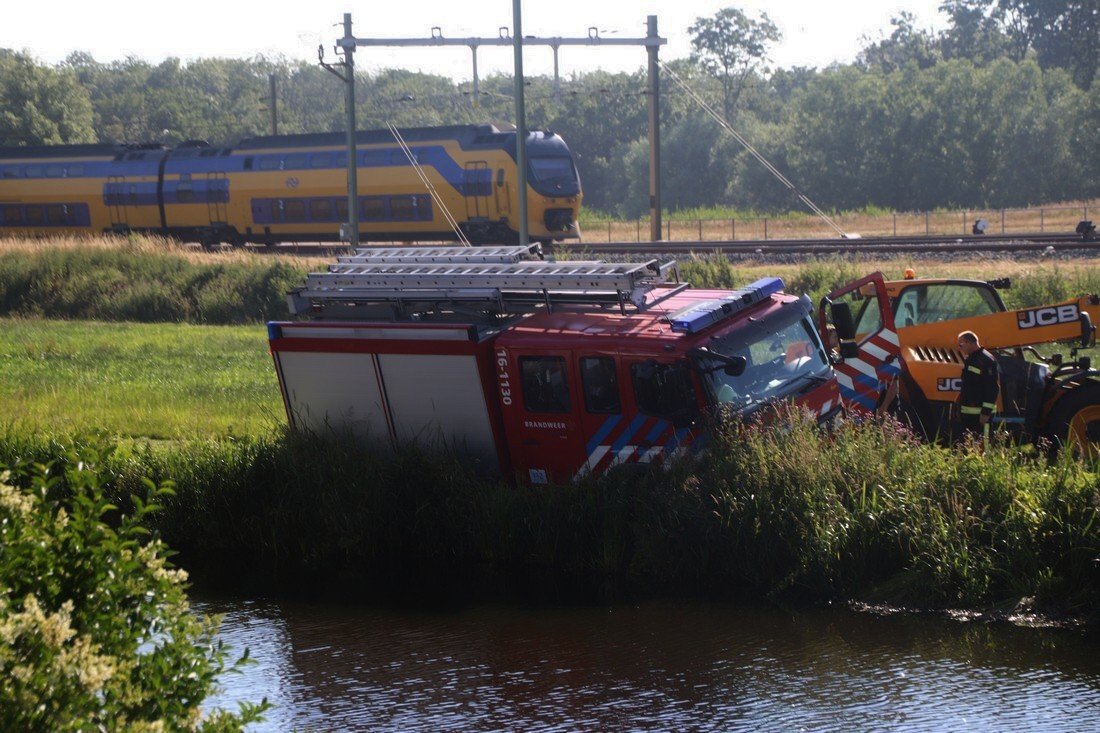
M 505 400 L 513 466 L 528 483 L 569 483 L 585 462 L 582 397 L 569 351 L 499 350 L 515 375 Z M 510 404 L 507 404 L 509 403 Z

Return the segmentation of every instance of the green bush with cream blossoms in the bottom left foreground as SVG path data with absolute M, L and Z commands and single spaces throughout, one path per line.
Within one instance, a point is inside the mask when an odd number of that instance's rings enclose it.
M 144 482 L 120 513 L 108 462 L 89 451 L 0 477 L 0 730 L 243 730 L 266 701 L 200 708 L 235 665 L 150 537 L 170 486 Z

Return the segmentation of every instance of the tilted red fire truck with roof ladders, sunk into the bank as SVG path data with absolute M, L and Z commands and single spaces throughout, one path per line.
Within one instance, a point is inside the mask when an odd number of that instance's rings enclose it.
M 694 289 L 673 262 L 549 262 L 536 247 L 363 249 L 268 325 L 292 427 L 459 448 L 563 483 L 705 442 L 708 412 L 839 387 L 805 296 L 778 277 Z

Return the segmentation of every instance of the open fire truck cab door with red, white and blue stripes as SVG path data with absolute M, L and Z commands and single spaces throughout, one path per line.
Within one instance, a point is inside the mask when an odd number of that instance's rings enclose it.
M 836 329 L 831 320 L 836 303 L 851 306 L 856 327 L 855 339 L 842 344 L 836 343 Z M 822 340 L 840 357 L 833 365 L 840 383 L 840 398 L 848 409 L 875 412 L 882 392 L 901 371 L 898 329 L 882 273 L 872 273 L 833 291 L 822 298 L 818 310 Z

